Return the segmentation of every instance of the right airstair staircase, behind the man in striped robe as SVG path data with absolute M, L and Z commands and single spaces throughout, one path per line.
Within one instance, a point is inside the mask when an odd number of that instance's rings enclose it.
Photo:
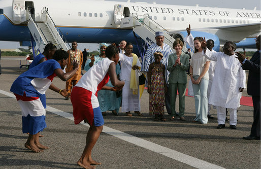
M 132 28 L 133 31 L 149 45 L 156 43 L 156 31 L 164 32 L 164 43 L 168 44 L 175 53 L 175 50 L 173 49 L 173 43 L 175 42 L 175 39 L 169 35 L 168 30 L 161 27 L 159 24 L 149 18 L 149 15 L 147 14 L 143 15 L 142 18 L 138 18 L 138 16 L 122 18 L 119 28 Z M 182 48 L 182 51 L 187 51 L 185 45 Z

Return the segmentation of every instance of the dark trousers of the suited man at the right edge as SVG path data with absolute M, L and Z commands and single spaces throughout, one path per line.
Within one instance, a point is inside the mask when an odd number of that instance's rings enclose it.
M 251 127 L 250 136 L 260 137 L 260 96 L 252 96 L 254 106 L 254 122 Z

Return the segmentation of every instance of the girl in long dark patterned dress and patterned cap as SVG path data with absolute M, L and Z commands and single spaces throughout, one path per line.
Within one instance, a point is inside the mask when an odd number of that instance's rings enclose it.
M 154 121 L 166 121 L 164 118 L 165 92 L 167 92 L 165 65 L 160 63 L 163 54 L 155 52 L 153 55 L 155 62 L 149 65 L 148 72 L 149 114 L 155 115 Z

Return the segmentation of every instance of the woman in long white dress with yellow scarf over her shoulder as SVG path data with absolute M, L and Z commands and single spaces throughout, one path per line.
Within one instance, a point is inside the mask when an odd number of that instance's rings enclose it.
M 136 71 L 141 68 L 141 63 L 138 56 L 132 53 L 132 43 L 127 43 L 125 48 L 125 53 L 120 54 L 120 80 L 125 81 L 125 85 L 122 88 L 121 111 L 126 112 L 126 115 L 129 117 L 132 117 L 131 111 L 134 111 L 139 116 L 143 116 L 140 113 L 139 76 Z

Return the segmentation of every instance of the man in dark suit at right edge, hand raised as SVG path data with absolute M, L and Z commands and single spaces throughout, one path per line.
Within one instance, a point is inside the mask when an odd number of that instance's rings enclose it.
M 257 51 L 250 60 L 239 52 L 236 52 L 242 64 L 243 70 L 249 70 L 247 81 L 247 94 L 252 96 L 254 106 L 254 121 L 250 135 L 244 140 L 260 140 L 260 35 L 256 39 Z

